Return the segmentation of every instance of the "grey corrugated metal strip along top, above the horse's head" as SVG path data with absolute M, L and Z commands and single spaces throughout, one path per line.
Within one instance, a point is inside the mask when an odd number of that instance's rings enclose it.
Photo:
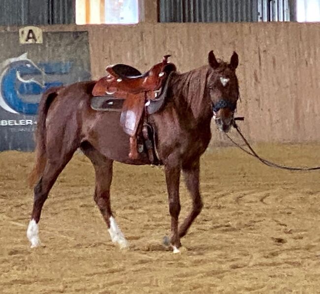
M 177 23 L 295 20 L 295 0 L 159 0 L 159 21 Z

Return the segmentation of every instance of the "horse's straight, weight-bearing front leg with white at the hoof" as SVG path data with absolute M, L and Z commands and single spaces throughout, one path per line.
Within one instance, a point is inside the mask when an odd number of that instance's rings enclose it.
M 180 182 L 180 167 L 165 165 L 165 181 L 167 184 L 169 212 L 171 215 L 171 246 L 173 253 L 179 253 L 181 246 L 180 237 L 178 234 L 178 218 L 180 213 L 179 199 L 179 182 Z

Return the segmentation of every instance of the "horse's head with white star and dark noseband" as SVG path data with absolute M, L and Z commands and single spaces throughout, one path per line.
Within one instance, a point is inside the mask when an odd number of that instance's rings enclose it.
M 235 70 L 238 66 L 238 55 L 233 52 L 230 63 L 217 60 L 213 51 L 208 55 L 211 67 L 207 78 L 207 88 L 212 103 L 215 122 L 221 131 L 228 132 L 239 98 L 238 79 Z

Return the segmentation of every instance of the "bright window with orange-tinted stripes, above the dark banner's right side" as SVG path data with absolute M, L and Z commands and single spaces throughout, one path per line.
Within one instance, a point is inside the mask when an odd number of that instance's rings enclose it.
M 76 0 L 76 24 L 137 24 L 139 0 Z

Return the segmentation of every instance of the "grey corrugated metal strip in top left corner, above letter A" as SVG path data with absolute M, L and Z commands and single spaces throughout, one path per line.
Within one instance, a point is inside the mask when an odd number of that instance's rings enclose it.
M 0 0 L 0 25 L 75 23 L 73 0 Z

